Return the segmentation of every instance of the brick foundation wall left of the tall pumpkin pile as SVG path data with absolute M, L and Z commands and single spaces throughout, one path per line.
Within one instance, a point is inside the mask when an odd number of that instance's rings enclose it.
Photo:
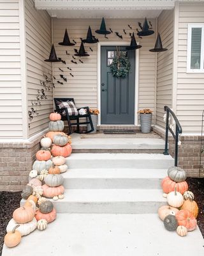
M 28 182 L 40 138 L 26 143 L 0 143 L 0 191 L 21 191 Z

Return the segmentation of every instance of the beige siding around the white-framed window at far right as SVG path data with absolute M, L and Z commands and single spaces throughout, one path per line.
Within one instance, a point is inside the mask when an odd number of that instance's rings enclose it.
M 204 24 L 203 3 L 179 4 L 179 49 L 177 78 L 177 116 L 184 132 L 201 131 L 204 109 L 204 74 L 187 73 L 187 24 Z

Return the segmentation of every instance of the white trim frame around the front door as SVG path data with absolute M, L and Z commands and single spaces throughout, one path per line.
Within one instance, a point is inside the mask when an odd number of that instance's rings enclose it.
M 137 42 L 137 44 L 139 44 Z M 101 46 L 128 46 L 129 42 L 99 42 L 98 54 L 97 54 L 97 91 L 98 91 L 98 125 L 101 125 Z M 136 50 L 135 50 L 136 51 Z M 135 122 L 134 125 L 138 125 L 138 77 L 139 77 L 139 51 L 135 52 Z M 102 124 L 103 125 L 103 124 Z M 105 124 L 108 125 L 108 124 Z M 110 124 L 112 125 L 112 124 Z

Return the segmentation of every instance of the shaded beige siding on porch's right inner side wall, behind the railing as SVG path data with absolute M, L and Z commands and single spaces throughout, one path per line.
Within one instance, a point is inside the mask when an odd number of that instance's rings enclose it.
M 164 105 L 172 106 L 173 10 L 164 10 L 159 15 L 158 31 L 163 47 L 168 49 L 157 54 L 156 124 L 164 128 Z

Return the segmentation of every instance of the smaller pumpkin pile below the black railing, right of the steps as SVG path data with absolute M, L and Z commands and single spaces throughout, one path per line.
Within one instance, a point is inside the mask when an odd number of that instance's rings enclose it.
M 186 172 L 177 166 L 168 169 L 168 177 L 161 184 L 168 205 L 159 207 L 159 218 L 169 231 L 177 230 L 179 236 L 186 236 L 188 231 L 196 229 L 198 205 L 194 195 L 188 191 Z

